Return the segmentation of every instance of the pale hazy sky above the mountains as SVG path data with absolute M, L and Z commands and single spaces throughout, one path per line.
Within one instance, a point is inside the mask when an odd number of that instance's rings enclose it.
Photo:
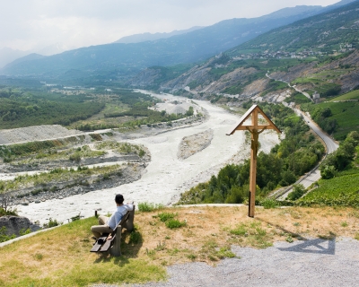
M 209 26 L 295 5 L 339 0 L 0 0 L 0 48 L 106 44 L 144 32 Z

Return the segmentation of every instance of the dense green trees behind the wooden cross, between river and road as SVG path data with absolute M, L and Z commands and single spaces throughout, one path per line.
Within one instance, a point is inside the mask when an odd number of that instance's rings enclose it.
M 302 174 L 311 170 L 324 154 L 323 145 L 311 134 L 301 117 L 282 105 L 260 105 L 267 116 L 285 133 L 285 139 L 271 152 L 258 153 L 258 200 L 277 187 L 292 185 Z M 241 204 L 248 198 L 250 161 L 227 165 L 209 182 L 181 195 L 180 204 Z

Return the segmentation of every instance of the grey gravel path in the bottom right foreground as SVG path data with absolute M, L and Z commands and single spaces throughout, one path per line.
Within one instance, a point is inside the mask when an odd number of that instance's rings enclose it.
M 166 283 L 129 286 L 349 287 L 359 282 L 359 241 L 355 239 L 276 242 L 261 250 L 234 246 L 232 251 L 241 258 L 224 259 L 215 267 L 206 263 L 172 265 Z

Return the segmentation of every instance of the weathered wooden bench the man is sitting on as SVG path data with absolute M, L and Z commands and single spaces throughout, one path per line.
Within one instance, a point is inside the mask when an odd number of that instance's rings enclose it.
M 126 228 L 127 231 L 131 232 L 134 230 L 134 219 L 135 219 L 135 205 L 132 211 L 128 211 L 121 221 L 118 222 L 118 226 L 111 233 L 103 233 L 101 238 L 97 239 L 90 252 L 106 253 L 114 257 L 121 256 L 121 233 L 122 228 Z

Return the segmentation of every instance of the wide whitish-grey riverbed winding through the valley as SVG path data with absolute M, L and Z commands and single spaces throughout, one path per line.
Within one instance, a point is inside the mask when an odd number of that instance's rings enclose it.
M 158 95 L 169 99 L 171 95 Z M 180 100 L 175 97 L 173 100 Z M 196 101 L 208 112 L 208 119 L 202 124 L 170 130 L 160 135 L 138 137 L 129 143 L 142 143 L 152 155 L 152 160 L 145 173 L 136 182 L 119 187 L 94 190 L 84 195 L 69 196 L 63 199 L 48 200 L 39 204 L 18 205 L 20 215 L 28 217 L 31 222 L 48 222 L 49 218 L 59 222 L 81 213 L 84 217 L 100 213 L 111 213 L 114 209 L 114 196 L 121 193 L 126 202 L 152 202 L 156 204 L 175 203 L 180 193 L 196 186 L 199 182 L 209 180 L 227 162 L 249 157 L 250 143 L 245 143 L 244 132 L 225 135 L 238 122 L 239 117 L 226 110 L 215 107 L 206 101 Z M 196 135 L 208 129 L 213 130 L 213 139 L 201 152 L 178 159 L 178 148 L 183 137 Z M 269 152 L 279 142 L 274 132 L 265 132 L 259 137 L 261 148 Z M 238 155 L 240 154 L 240 156 Z

